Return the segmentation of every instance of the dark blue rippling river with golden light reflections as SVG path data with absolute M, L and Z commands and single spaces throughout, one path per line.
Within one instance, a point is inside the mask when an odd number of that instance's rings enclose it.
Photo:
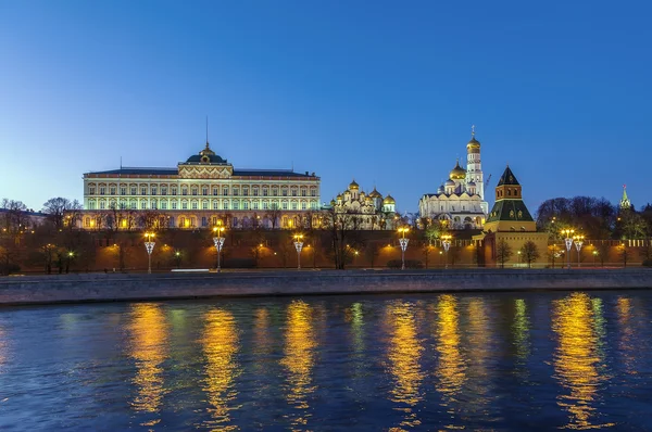
M 0 430 L 652 430 L 652 293 L 0 309 Z

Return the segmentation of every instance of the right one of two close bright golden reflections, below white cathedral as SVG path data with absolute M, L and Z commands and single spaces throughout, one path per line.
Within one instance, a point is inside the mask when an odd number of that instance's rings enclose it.
M 466 361 L 460 350 L 460 314 L 457 300 L 444 294 L 437 303 L 437 391 L 444 398 L 444 405 L 455 402 L 455 396 L 466 379 Z

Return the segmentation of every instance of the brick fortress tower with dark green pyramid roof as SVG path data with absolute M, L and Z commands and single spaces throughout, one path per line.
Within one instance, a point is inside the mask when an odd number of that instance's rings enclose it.
M 523 188 L 512 169 L 507 166 L 496 187 L 496 203 L 489 212 L 484 231 L 475 236 L 479 243 L 478 263 L 498 265 L 498 245 L 505 241 L 513 255 L 506 266 L 526 266 L 525 258 L 518 254 L 523 245 L 532 241 L 539 252 L 532 266 L 541 266 L 548 257 L 548 233 L 537 232 L 537 223 L 523 202 Z

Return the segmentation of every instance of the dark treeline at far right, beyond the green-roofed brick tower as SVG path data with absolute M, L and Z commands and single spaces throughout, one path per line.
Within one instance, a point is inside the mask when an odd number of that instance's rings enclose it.
M 537 227 L 554 240 L 566 228 L 591 240 L 645 239 L 652 237 L 652 205 L 620 209 L 604 198 L 554 198 L 539 205 Z

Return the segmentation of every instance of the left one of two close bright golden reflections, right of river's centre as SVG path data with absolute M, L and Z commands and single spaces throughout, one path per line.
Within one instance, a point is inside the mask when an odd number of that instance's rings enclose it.
M 422 399 L 421 383 L 424 379 L 421 370 L 422 342 L 417 338 L 414 305 L 392 303 L 388 305 L 387 322 L 390 328 L 388 348 L 389 372 L 393 378 L 390 401 L 397 404 L 394 409 L 403 411 L 401 428 L 414 428 L 421 424 L 413 408 Z

